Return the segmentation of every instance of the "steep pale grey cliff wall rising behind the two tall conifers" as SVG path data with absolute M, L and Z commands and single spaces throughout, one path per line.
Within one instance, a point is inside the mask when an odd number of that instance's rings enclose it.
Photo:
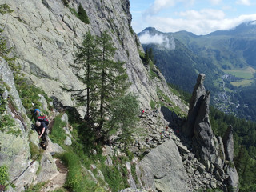
M 82 83 L 72 73 L 70 64 L 74 62 L 77 46 L 81 44 L 86 31 L 100 35 L 107 30 L 117 48 L 115 59 L 126 62 L 130 90 L 138 93 L 142 106 L 150 108 L 150 101 L 158 102 L 157 90 L 169 95 L 175 105 L 186 110 L 186 106 L 172 94 L 159 73 L 159 78 L 149 78 L 146 67 L 139 58 L 142 46 L 130 27 L 130 2 L 126 1 L 74 1 L 70 8 L 62 0 L 18 1 L 3 0 L 14 10 L 10 16 L 0 15 L 2 24 L 6 22 L 4 35 L 9 46 L 14 47 L 17 64 L 22 67 L 27 78 L 55 96 L 65 106 L 74 106 L 70 94 L 61 86 L 81 88 Z M 81 3 L 90 24 L 83 23 L 70 9 L 77 10 Z M 84 110 L 84 109 L 82 109 Z M 81 112 L 81 111 L 80 111 Z

